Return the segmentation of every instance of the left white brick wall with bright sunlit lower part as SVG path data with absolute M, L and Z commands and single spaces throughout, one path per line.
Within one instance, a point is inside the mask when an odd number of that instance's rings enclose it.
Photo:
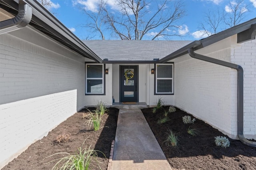
M 84 58 L 29 27 L 0 42 L 1 168 L 86 104 Z

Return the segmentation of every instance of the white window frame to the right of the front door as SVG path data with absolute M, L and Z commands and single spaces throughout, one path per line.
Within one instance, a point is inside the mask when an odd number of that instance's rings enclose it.
M 158 78 L 157 77 L 157 65 L 172 65 L 172 78 Z M 155 95 L 161 94 L 161 95 L 172 95 L 174 94 L 174 63 L 165 63 L 165 64 L 155 64 L 155 74 L 154 74 L 154 80 L 155 80 Z M 157 80 L 172 80 L 172 92 L 158 92 L 157 91 Z

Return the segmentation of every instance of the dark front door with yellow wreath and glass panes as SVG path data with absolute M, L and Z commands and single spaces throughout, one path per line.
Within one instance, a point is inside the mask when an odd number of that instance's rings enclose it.
M 120 66 L 121 102 L 138 102 L 138 66 Z

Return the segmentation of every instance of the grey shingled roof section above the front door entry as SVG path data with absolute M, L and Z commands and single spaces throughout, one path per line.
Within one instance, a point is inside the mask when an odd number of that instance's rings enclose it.
M 153 59 L 162 59 L 192 41 L 86 40 L 83 42 L 102 60 L 153 61 Z

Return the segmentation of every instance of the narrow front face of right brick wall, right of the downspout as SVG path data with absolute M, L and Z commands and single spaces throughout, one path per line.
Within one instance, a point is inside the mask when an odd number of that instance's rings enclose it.
M 234 45 L 231 61 L 244 69 L 244 135 L 256 139 L 256 40 Z

